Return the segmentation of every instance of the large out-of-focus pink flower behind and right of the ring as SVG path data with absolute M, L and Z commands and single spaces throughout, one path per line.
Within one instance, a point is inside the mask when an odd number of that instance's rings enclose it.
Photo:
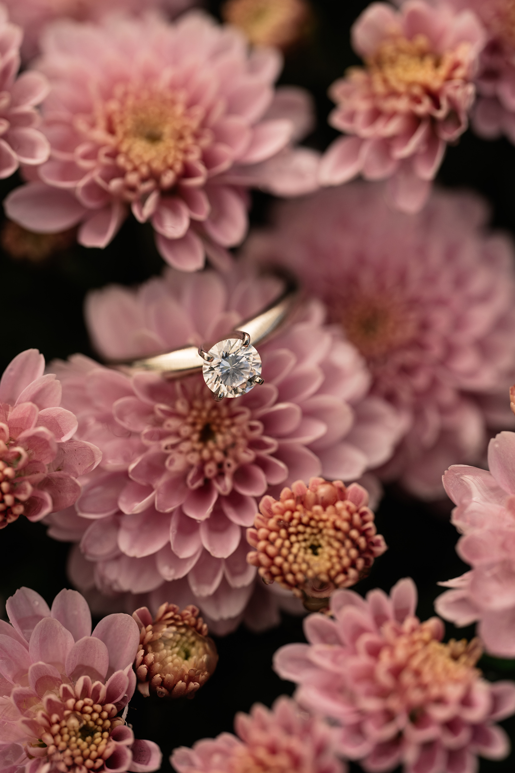
M 246 247 L 294 267 L 361 350 L 373 393 L 408 427 L 381 475 L 425 499 L 443 495 L 449 465 L 479 461 L 487 427 L 513 426 L 513 247 L 485 233 L 486 216 L 479 199 L 449 192 L 406 216 L 382 186 L 355 182 L 281 203 Z

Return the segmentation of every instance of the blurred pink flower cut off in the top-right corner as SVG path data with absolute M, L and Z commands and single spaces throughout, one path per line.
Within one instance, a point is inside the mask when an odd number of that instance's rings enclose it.
M 486 28 L 486 45 L 474 78 L 479 94 L 472 124 L 480 137 L 507 135 L 515 143 L 515 5 L 513 0 L 447 0 L 470 9 Z

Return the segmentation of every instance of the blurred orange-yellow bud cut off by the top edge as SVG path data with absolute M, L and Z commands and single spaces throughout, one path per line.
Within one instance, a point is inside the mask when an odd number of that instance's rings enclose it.
M 310 6 L 306 0 L 227 0 L 222 16 L 254 45 L 285 49 L 306 32 Z

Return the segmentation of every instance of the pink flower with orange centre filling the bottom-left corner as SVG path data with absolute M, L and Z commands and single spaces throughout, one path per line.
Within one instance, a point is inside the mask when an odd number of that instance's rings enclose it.
M 77 591 L 46 601 L 22 587 L 0 620 L 0 771 L 134 771 L 161 764 L 153 741 L 138 741 L 117 717 L 136 686 L 139 644 L 130 615 L 109 615 L 91 632 Z

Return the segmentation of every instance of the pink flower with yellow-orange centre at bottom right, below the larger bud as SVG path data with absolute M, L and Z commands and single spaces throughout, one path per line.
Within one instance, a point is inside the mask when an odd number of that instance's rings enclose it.
M 469 773 L 476 755 L 503 759 L 510 742 L 493 723 L 515 711 L 515 684 L 486 682 L 478 640 L 443 644 L 442 621 L 421 623 L 416 602 L 409 579 L 390 597 L 336 591 L 334 620 L 310 615 L 310 644 L 282 647 L 274 667 L 299 683 L 302 706 L 341 728 L 338 751 L 368 773 Z

